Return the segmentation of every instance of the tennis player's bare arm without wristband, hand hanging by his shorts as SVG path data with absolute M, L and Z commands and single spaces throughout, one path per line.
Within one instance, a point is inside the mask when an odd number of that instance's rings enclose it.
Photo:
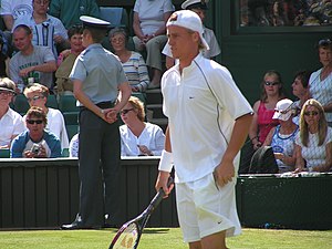
M 234 159 L 241 149 L 249 133 L 252 114 L 248 113 L 236 120 L 230 141 L 222 156 L 221 163 L 215 169 L 215 178 L 220 186 L 235 177 Z

